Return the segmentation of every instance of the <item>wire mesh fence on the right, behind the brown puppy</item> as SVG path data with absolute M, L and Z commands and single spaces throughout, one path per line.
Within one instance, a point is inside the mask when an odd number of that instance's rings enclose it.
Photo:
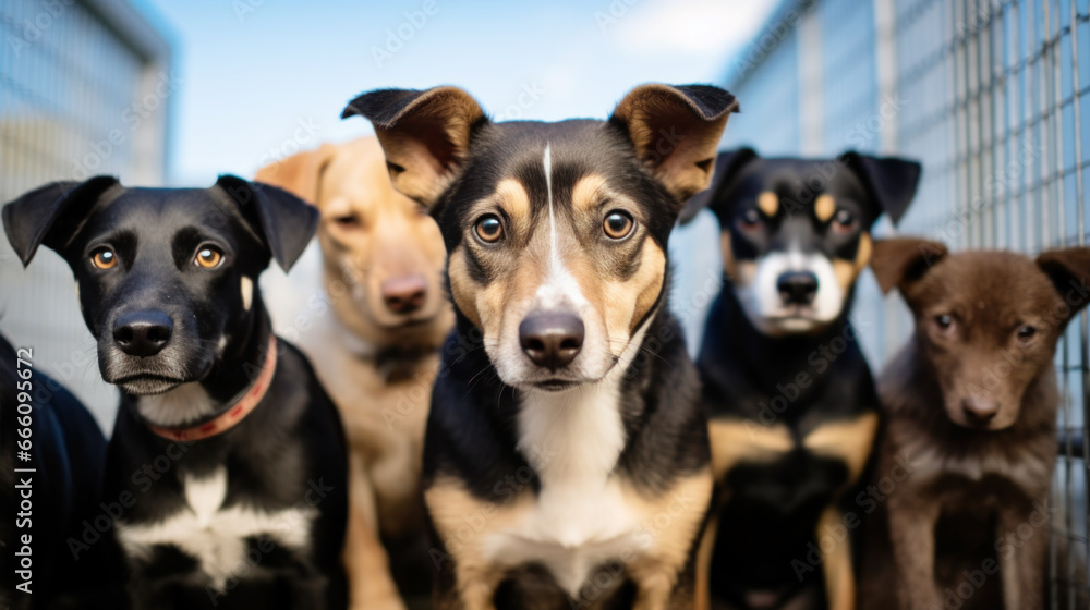
M 1090 0 L 787 1 L 725 83 L 743 112 L 726 146 L 767 156 L 855 148 L 922 160 L 924 178 L 900 233 L 955 249 L 1028 254 L 1087 241 Z M 883 221 L 875 231 L 891 229 Z M 683 241 L 713 243 L 704 240 Z M 869 277 L 855 316 L 875 369 L 911 329 L 900 298 L 883 298 Z M 1056 353 L 1056 607 L 1088 593 L 1088 347 L 1083 313 Z

